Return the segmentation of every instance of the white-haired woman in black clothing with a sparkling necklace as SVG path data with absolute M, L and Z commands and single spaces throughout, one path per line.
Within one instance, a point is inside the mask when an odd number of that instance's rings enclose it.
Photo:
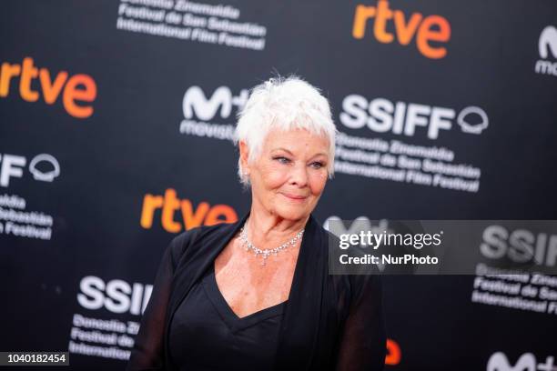
M 331 276 L 312 216 L 333 174 L 327 99 L 297 77 L 256 86 L 239 115 L 248 214 L 174 238 L 127 370 L 380 370 L 380 276 Z

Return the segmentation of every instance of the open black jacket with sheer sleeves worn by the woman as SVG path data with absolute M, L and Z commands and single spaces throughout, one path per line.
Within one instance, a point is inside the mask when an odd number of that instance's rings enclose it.
M 172 316 L 247 218 L 190 229 L 167 246 L 127 371 L 178 369 L 167 346 Z M 380 276 L 329 275 L 329 238 L 336 237 L 309 216 L 281 322 L 276 370 L 383 369 Z

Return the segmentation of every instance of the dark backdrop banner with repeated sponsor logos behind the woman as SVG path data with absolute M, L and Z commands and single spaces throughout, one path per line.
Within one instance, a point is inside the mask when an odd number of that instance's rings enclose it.
M 333 109 L 321 223 L 557 219 L 554 1 L 200 1 L 0 5 L 0 350 L 125 366 L 167 243 L 248 211 L 231 135 L 272 75 Z M 483 273 L 385 276 L 386 368 L 554 369 L 557 279 Z

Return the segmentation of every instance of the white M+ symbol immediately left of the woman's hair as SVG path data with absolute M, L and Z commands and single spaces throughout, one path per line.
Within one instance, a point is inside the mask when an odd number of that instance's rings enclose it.
M 217 114 L 222 118 L 228 118 L 233 106 L 239 111 L 247 101 L 247 89 L 240 90 L 238 95 L 232 95 L 228 86 L 219 86 L 208 98 L 199 86 L 190 86 L 184 94 L 182 110 L 186 119 L 192 119 L 195 114 L 197 119 L 208 121 Z

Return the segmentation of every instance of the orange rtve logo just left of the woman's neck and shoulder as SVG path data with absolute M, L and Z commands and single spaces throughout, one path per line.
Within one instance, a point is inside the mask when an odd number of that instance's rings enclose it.
M 228 205 L 210 206 L 207 202 L 200 203 L 194 210 L 191 201 L 179 200 L 176 191 L 168 188 L 165 196 L 147 194 L 143 197 L 140 224 L 145 229 L 153 226 L 155 211 L 162 209 L 161 224 L 167 232 L 177 233 L 183 228 L 191 229 L 196 226 L 213 226 L 218 223 L 234 223 L 238 220 L 236 211 Z M 176 211 L 182 214 L 183 223 L 174 219 Z

